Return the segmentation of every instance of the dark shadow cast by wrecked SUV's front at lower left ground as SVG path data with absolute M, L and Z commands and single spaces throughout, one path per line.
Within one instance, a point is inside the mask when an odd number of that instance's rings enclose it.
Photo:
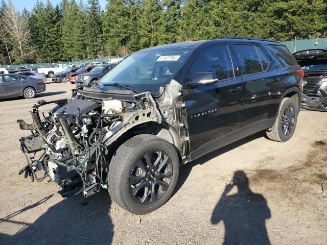
M 108 214 L 111 200 L 107 191 L 102 190 L 87 199 L 82 195 L 63 199 L 50 207 L 33 224 L 15 221 L 14 217 L 17 214 L 26 211 L 33 212 L 45 201 L 42 199 L 36 204 L 0 218 L 0 223 L 15 223 L 22 227 L 15 235 L 0 233 L 0 243 L 15 245 L 111 244 L 113 224 Z

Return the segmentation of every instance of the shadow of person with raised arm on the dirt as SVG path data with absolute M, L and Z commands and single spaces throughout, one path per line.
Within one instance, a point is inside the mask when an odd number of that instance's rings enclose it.
M 238 192 L 228 195 L 233 186 L 237 186 Z M 266 219 L 270 216 L 266 199 L 262 194 L 251 191 L 246 174 L 238 170 L 232 182 L 226 185 L 212 213 L 211 223 L 224 223 L 224 245 L 267 245 L 270 242 Z

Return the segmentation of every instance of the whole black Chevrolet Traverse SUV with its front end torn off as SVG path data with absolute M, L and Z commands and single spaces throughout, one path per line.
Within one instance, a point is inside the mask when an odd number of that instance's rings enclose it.
M 49 176 L 62 197 L 108 189 L 136 214 L 164 205 L 179 165 L 259 131 L 289 140 L 303 71 L 279 42 L 229 37 L 156 46 L 132 54 L 68 100 L 39 101 L 20 174 Z M 55 103 L 44 120 L 39 107 Z M 37 174 L 40 171 L 43 174 Z

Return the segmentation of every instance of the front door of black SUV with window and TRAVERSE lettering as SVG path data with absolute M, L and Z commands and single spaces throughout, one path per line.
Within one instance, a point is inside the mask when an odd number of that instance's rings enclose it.
M 235 71 L 228 45 L 215 45 L 202 51 L 186 76 L 184 100 L 191 160 L 241 137 L 243 85 Z M 188 86 L 198 75 L 208 72 L 216 74 L 218 81 Z

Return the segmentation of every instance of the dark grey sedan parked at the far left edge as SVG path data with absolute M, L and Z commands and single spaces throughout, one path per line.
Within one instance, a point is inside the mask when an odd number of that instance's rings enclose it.
M 24 96 L 32 99 L 36 93 L 44 92 L 42 79 L 20 74 L 0 74 L 0 98 Z

